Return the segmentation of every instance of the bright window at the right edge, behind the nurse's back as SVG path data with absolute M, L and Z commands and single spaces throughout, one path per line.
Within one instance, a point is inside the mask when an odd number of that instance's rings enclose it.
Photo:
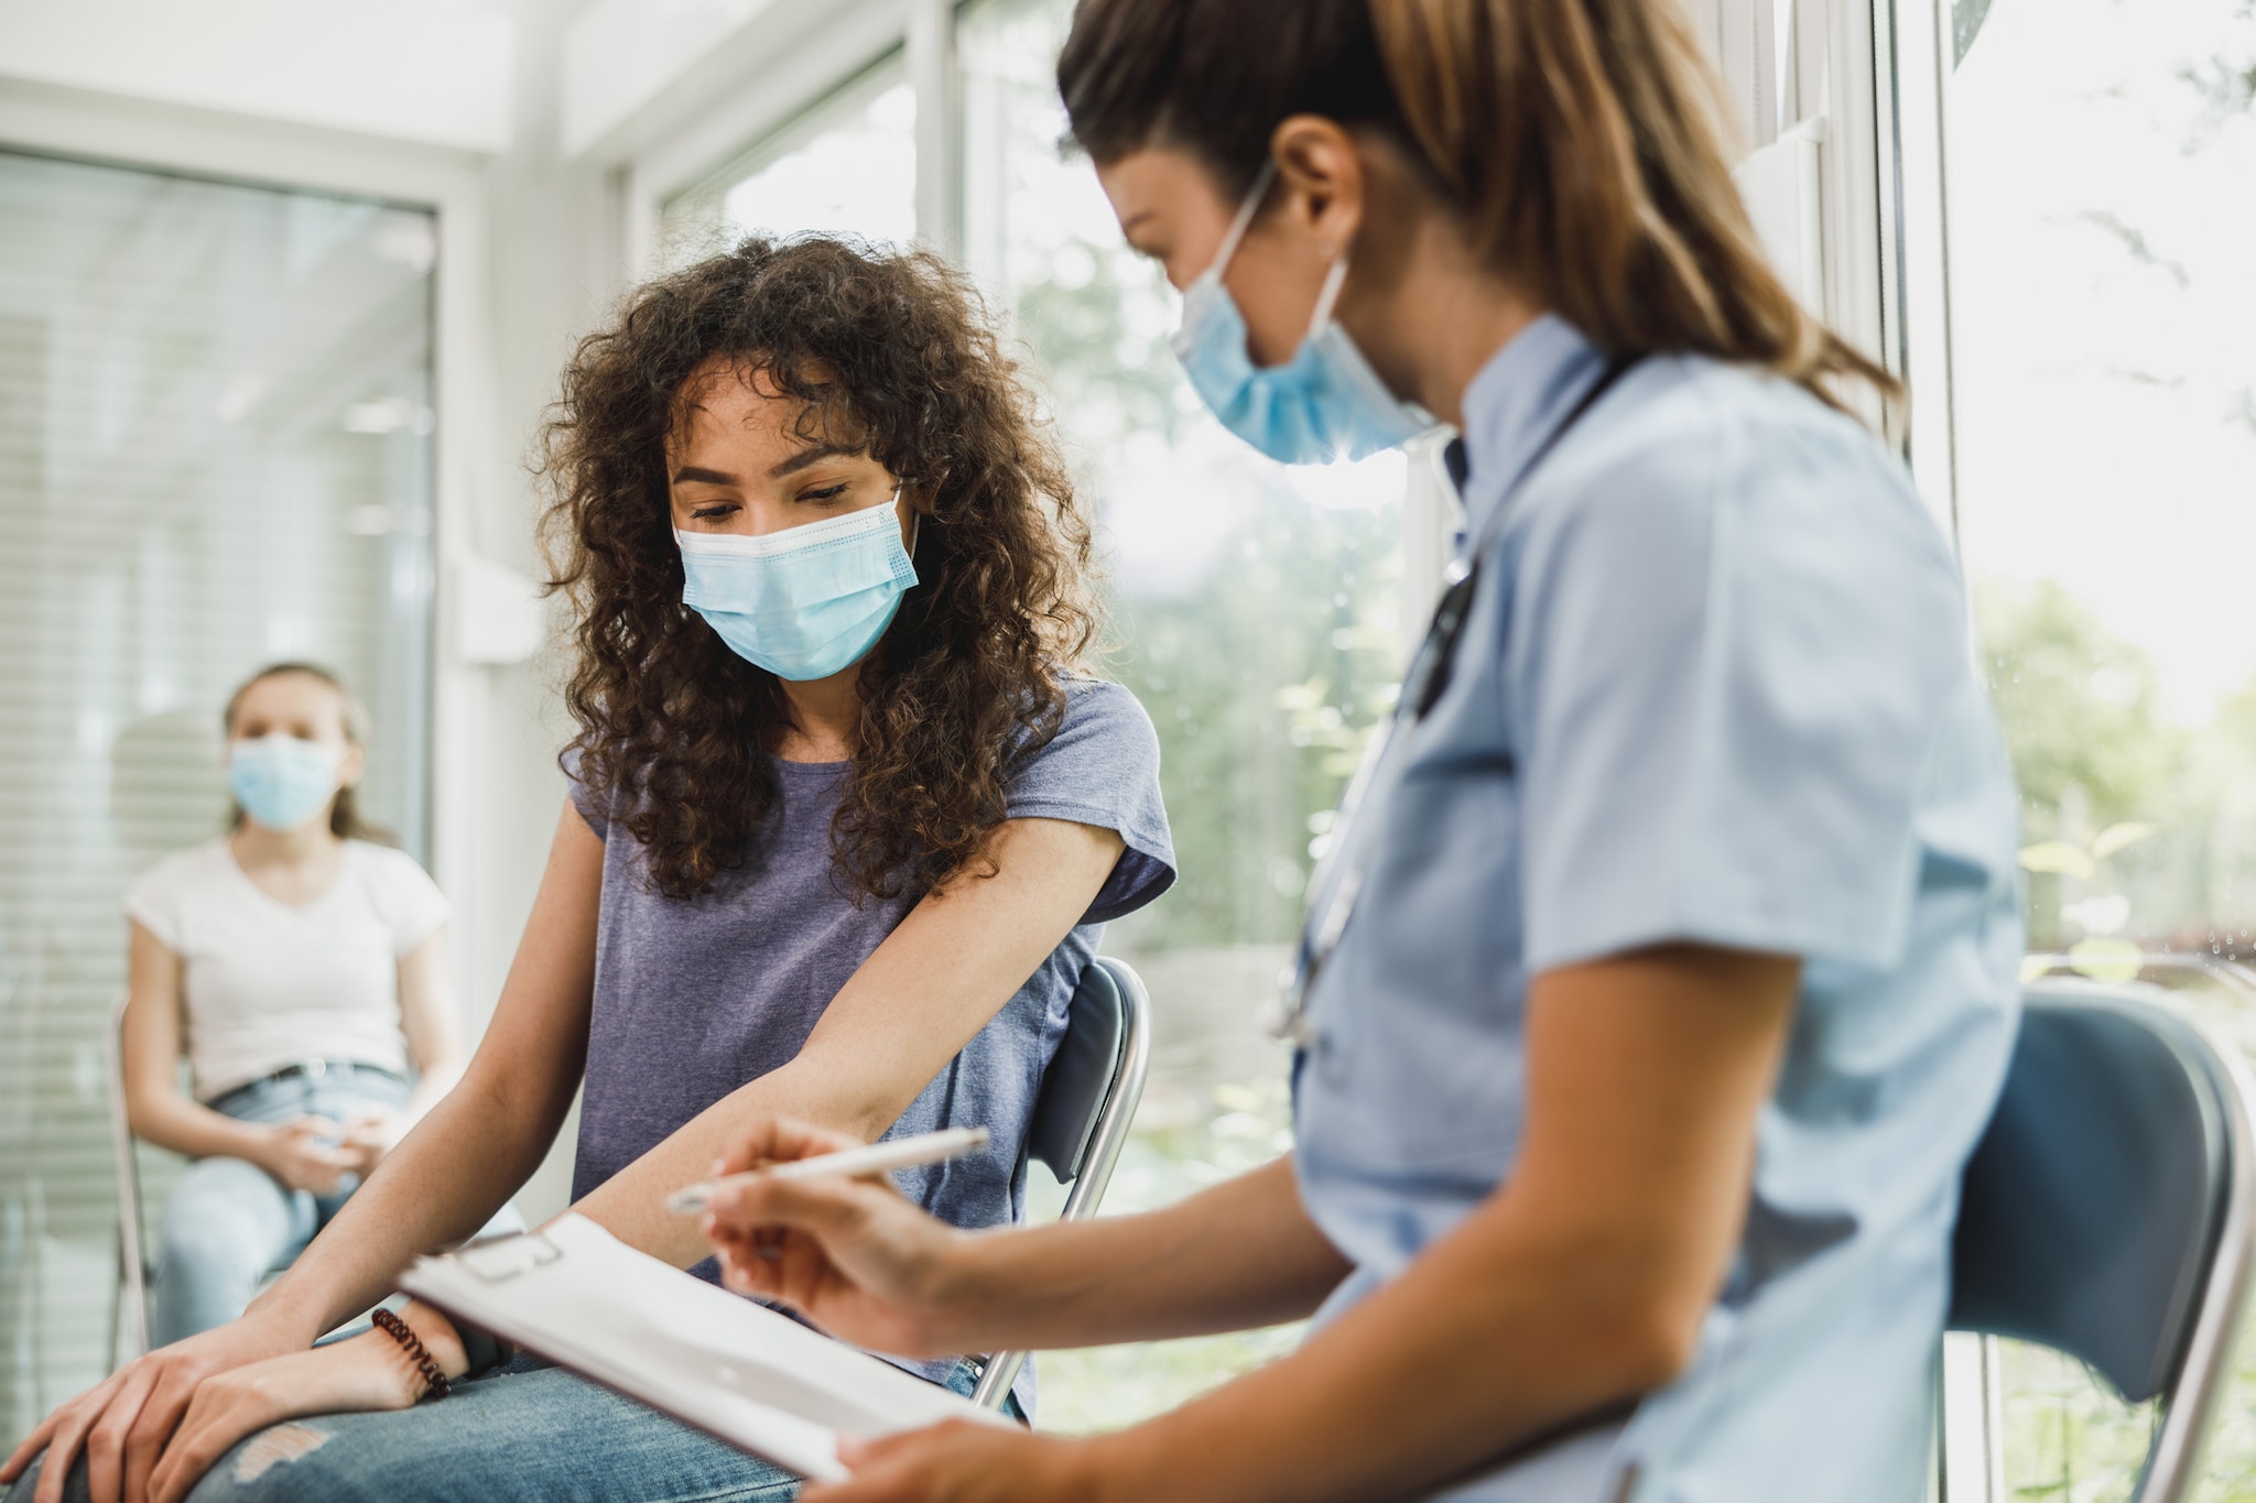
M 2030 971 L 2145 980 L 2251 1037 L 2256 11 L 1958 0 L 1954 23 L 1958 534 L 2021 784 Z M 2152 1415 L 1999 1357 L 2010 1496 L 2127 1496 Z M 2251 1413 L 2242 1381 L 2204 1498 L 2256 1485 Z

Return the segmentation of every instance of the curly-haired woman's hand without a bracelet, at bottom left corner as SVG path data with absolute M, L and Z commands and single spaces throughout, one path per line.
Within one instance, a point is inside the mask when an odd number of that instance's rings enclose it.
M 61 1503 L 63 1480 L 86 1451 L 92 1503 L 140 1503 L 158 1453 L 205 1379 L 305 1345 L 300 1332 L 253 1314 L 138 1357 L 47 1415 L 0 1467 L 0 1485 L 45 1451 L 34 1503 Z

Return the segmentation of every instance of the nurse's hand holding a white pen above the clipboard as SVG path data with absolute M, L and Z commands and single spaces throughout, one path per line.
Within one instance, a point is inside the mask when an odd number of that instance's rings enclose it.
M 754 1127 L 722 1174 L 864 1147 L 844 1133 L 778 1118 Z M 927 1217 L 871 1179 L 754 1179 L 715 1190 L 706 1237 L 722 1282 L 781 1300 L 832 1336 L 896 1357 L 948 1357 L 979 1345 L 972 1237 Z

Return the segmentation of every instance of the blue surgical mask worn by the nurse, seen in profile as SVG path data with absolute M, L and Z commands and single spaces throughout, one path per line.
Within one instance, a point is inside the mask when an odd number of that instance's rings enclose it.
M 1315 318 L 1293 358 L 1263 370 L 1245 352 L 1245 315 L 1223 286 L 1223 273 L 1275 176 L 1275 162 L 1261 169 L 1214 266 L 1182 297 L 1182 329 L 1173 343 L 1191 390 L 1214 408 L 1225 428 L 1286 464 L 1363 460 L 1415 439 L 1435 419 L 1396 399 L 1347 338 L 1347 329 L 1331 320 L 1340 284 L 1347 282 L 1345 252 L 1324 277 Z

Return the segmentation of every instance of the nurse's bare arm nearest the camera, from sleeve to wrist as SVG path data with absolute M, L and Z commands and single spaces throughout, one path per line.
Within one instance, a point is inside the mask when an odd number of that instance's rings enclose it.
M 1539 976 L 1505 1185 L 1295 1357 L 1096 1442 L 1092 1471 L 1121 1498 L 1426 1496 L 1672 1381 L 1739 1242 L 1798 973 L 1663 946 Z

